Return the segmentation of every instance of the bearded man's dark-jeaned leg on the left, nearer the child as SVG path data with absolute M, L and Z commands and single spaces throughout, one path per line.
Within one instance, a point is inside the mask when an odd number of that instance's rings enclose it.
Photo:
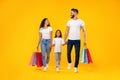
M 68 40 L 68 44 L 67 44 L 67 59 L 68 59 L 68 63 L 71 63 L 72 47 L 73 47 L 73 41 L 72 40 Z

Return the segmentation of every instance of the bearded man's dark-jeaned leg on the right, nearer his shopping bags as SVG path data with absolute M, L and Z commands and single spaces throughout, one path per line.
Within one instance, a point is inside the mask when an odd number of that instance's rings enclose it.
M 79 64 L 79 56 L 80 56 L 80 40 L 75 40 L 74 44 L 75 44 L 75 66 L 74 67 L 77 68 Z

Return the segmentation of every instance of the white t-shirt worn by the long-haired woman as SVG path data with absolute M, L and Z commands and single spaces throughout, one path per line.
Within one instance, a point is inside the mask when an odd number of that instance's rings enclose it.
M 42 39 L 50 39 L 50 32 L 52 31 L 51 27 L 48 27 L 46 29 L 40 28 L 40 33 L 42 33 Z

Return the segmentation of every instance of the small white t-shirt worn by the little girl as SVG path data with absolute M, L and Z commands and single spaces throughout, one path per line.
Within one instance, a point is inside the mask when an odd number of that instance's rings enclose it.
M 62 38 L 54 38 L 53 44 L 55 45 L 54 52 L 61 52 L 62 44 L 64 44 L 64 40 Z

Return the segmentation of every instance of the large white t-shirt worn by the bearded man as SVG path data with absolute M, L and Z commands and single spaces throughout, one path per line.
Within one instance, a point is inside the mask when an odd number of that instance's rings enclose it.
M 67 26 L 70 27 L 68 39 L 80 40 L 80 28 L 85 26 L 84 21 L 71 19 L 68 21 Z

